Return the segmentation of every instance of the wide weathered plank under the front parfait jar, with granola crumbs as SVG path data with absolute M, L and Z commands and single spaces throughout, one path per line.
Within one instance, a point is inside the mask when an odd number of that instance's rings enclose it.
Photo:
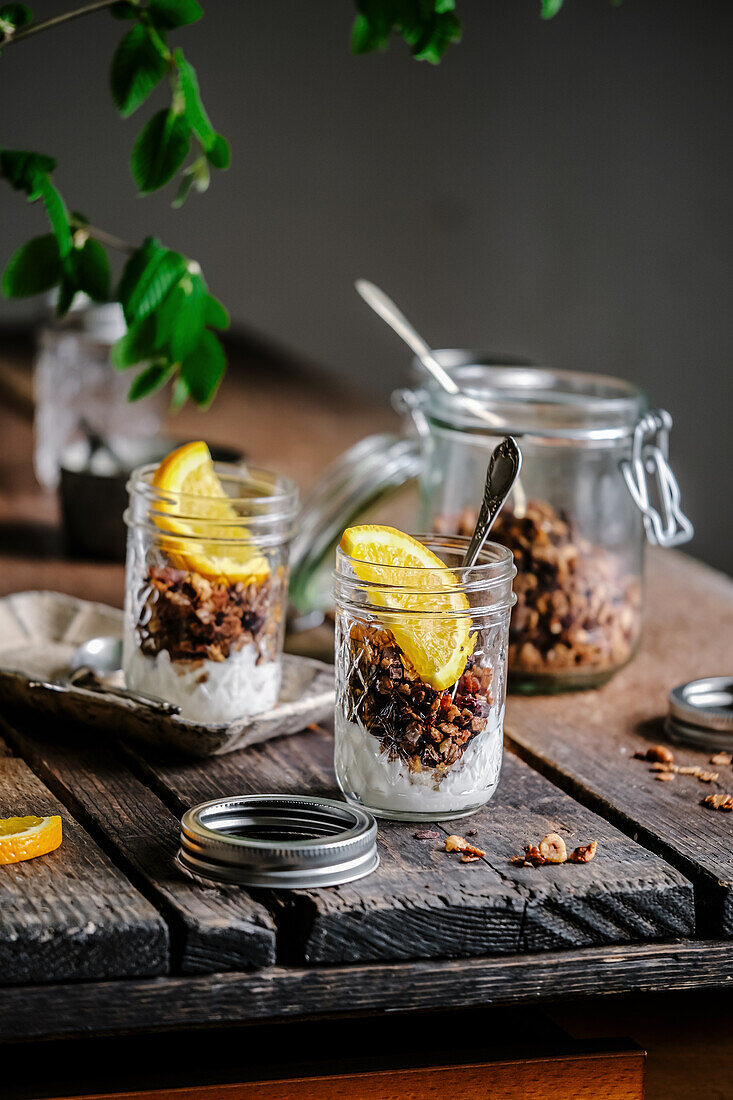
M 332 740 L 324 730 L 282 738 L 207 761 L 136 767 L 178 813 L 236 793 L 335 795 Z M 466 865 L 444 849 L 448 832 L 477 829 L 484 860 Z M 381 866 L 338 889 L 270 899 L 281 958 L 311 963 L 466 957 L 635 942 L 689 934 L 693 899 L 681 875 L 589 814 L 515 757 L 505 761 L 490 805 L 418 839 L 417 827 L 383 823 Z M 586 866 L 532 869 L 510 864 L 525 843 L 557 831 L 571 844 L 599 842 Z

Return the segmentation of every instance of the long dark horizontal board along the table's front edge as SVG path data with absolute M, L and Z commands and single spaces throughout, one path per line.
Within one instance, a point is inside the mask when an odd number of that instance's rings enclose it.
M 8 989 L 0 998 L 0 1041 L 715 988 L 733 989 L 733 945 L 715 941 L 430 959 L 409 967 L 271 967 Z

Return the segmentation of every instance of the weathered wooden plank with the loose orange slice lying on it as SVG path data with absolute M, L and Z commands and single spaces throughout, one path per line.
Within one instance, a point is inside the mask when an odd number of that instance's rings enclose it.
M 165 974 L 160 914 L 30 768 L 3 755 L 0 817 L 26 814 L 61 814 L 64 839 L 0 867 L 0 983 Z

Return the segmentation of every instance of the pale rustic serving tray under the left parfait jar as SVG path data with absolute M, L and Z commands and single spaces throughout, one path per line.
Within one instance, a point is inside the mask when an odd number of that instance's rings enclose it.
M 105 693 L 124 685 L 122 673 L 100 678 L 97 689 L 63 684 L 73 650 L 99 635 L 122 635 L 122 612 L 57 592 L 18 592 L 0 598 L 0 700 L 47 717 L 78 722 L 125 739 L 187 756 L 233 752 L 295 734 L 333 711 L 333 668 L 283 656 L 277 705 L 226 726 L 199 725 Z M 39 683 L 56 681 L 56 683 Z

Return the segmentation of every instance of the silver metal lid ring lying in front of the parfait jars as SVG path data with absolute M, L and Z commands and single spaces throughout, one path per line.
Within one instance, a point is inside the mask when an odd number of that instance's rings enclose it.
M 358 806 L 296 794 L 214 799 L 180 822 L 176 862 L 204 879 L 250 887 L 339 886 L 379 866 L 376 823 Z

